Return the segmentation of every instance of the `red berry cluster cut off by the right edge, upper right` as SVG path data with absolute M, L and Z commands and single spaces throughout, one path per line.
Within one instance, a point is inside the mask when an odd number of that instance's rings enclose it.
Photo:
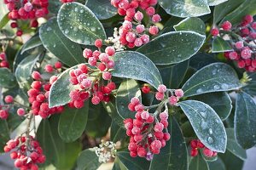
M 221 29 L 212 29 L 212 36 L 224 37 L 228 35 L 228 41 L 233 48 L 225 52 L 227 59 L 235 60 L 239 68 L 247 71 L 256 71 L 256 22 L 253 22 L 252 15 L 246 15 L 239 26 L 232 26 L 229 21 L 221 25 Z

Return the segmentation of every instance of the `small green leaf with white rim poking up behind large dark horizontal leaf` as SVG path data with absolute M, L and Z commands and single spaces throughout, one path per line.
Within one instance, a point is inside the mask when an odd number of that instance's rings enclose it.
M 195 31 L 201 35 L 206 34 L 206 25 L 200 18 L 186 18 L 173 26 L 175 31 Z

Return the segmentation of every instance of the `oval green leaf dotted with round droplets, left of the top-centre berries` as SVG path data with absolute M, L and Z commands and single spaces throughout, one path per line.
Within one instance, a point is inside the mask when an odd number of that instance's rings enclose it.
M 81 3 L 64 3 L 58 14 L 63 34 L 73 42 L 94 44 L 96 39 L 107 39 L 101 22 Z

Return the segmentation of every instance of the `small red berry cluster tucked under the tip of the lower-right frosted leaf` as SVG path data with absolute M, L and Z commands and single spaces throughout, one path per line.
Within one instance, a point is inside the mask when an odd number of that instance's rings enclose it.
M 191 140 L 190 147 L 191 147 L 190 156 L 193 156 L 193 157 L 198 155 L 198 150 L 200 149 L 202 150 L 202 153 L 204 154 L 204 156 L 207 156 L 207 157 L 217 156 L 218 154 L 218 152 L 208 149 L 204 144 L 201 143 L 199 139 Z

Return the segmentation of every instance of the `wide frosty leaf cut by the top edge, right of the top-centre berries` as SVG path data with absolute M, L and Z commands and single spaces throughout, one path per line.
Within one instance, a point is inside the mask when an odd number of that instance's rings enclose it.
M 159 0 L 160 6 L 166 13 L 177 17 L 201 16 L 211 13 L 207 0 Z

